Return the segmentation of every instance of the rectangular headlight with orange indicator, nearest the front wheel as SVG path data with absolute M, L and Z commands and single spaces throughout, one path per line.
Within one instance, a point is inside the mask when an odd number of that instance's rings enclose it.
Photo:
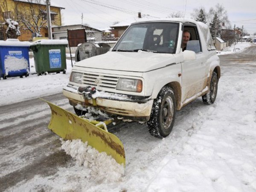
M 140 79 L 120 78 L 117 82 L 116 89 L 140 93 L 142 91 L 142 81 Z

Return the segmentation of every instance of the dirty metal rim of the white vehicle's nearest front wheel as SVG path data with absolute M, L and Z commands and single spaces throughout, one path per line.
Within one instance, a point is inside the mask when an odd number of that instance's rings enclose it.
M 161 113 L 161 123 L 164 129 L 168 129 L 172 124 L 173 118 L 173 103 L 172 98 L 167 97 L 163 103 L 162 113 Z

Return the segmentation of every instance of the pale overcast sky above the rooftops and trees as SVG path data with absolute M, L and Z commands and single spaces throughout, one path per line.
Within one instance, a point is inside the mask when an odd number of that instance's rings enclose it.
M 93 3 L 89 3 L 93 2 Z M 191 18 L 194 8 L 209 8 L 220 3 L 227 10 L 232 28 L 236 27 L 256 32 L 256 0 L 51 0 L 52 4 L 64 7 L 63 24 L 83 23 L 95 28 L 107 28 L 116 21 L 136 17 L 137 12 L 154 17 L 167 17 L 170 13 L 180 11 Z M 115 9 L 108 8 L 115 6 Z M 122 11 L 119 11 L 122 10 Z

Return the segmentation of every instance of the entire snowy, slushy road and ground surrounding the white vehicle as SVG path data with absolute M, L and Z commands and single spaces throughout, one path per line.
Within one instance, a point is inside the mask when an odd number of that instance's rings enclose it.
M 255 55 L 256 46 L 220 56 L 215 103 L 198 98 L 178 111 L 167 138 L 154 138 L 135 122 L 111 127 L 125 147 L 123 176 L 105 162 L 76 164 L 47 129 L 50 110 L 39 99 L 2 105 L 0 191 L 255 192 Z M 61 93 L 44 98 L 72 110 Z

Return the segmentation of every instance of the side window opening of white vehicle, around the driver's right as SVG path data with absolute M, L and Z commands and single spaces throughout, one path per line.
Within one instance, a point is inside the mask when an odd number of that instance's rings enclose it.
M 186 50 L 195 51 L 195 53 L 202 52 L 201 42 L 196 26 L 185 26 L 184 31 L 189 31 L 190 39 L 187 42 Z

